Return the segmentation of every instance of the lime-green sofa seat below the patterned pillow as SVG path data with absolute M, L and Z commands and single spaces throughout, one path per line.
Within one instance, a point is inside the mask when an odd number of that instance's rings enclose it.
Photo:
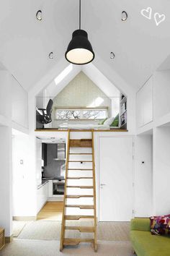
M 133 249 L 138 256 L 169 256 L 170 237 L 152 236 L 150 231 L 130 231 Z

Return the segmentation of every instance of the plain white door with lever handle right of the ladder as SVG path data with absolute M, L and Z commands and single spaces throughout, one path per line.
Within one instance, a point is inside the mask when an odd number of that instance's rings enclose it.
M 99 138 L 99 221 L 133 218 L 133 138 Z

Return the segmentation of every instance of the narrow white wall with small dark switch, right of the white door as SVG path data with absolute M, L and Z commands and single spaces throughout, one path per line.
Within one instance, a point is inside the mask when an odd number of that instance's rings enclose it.
M 142 163 L 144 161 L 144 163 Z M 153 213 L 153 136 L 140 135 L 135 140 L 135 216 Z

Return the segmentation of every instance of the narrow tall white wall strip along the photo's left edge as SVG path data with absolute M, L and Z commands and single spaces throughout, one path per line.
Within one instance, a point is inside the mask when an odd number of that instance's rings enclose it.
M 0 70 L 0 226 L 12 235 L 12 116 L 11 75 Z

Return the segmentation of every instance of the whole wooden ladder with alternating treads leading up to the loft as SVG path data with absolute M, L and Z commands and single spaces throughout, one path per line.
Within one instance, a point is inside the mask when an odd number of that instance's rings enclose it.
M 71 148 L 91 148 L 91 153 L 71 153 Z M 73 158 L 74 156 L 79 155 L 83 158 L 83 156 L 89 155 L 91 156 L 90 160 L 70 160 L 70 158 Z M 91 163 L 91 168 L 70 168 L 71 163 Z M 71 176 L 71 171 L 80 171 L 82 173 L 81 176 Z M 84 171 L 91 171 L 91 176 L 85 176 Z M 85 185 L 80 186 L 77 185 L 69 185 L 70 181 L 77 180 L 81 181 L 81 179 L 84 179 L 84 181 L 88 181 L 89 179 L 92 179 L 91 186 Z M 68 189 L 87 189 L 91 190 L 92 193 L 89 193 L 89 195 L 84 195 L 86 193 L 75 193 L 76 195 L 69 195 Z M 75 190 L 74 190 L 75 192 Z M 79 195 L 82 194 L 82 195 Z M 91 194 L 91 195 L 90 195 Z M 78 205 L 67 202 L 67 200 L 79 200 L 83 198 L 92 198 L 93 202 L 91 205 Z M 81 210 L 87 210 L 91 209 L 94 213 L 91 215 L 67 215 L 66 209 L 81 209 Z M 86 219 L 86 221 L 89 219 L 89 221 L 93 220 L 92 226 L 67 226 L 67 221 L 79 221 L 81 219 Z M 87 222 L 88 223 L 88 222 Z M 79 223 L 78 223 L 79 224 Z M 66 230 L 72 230 L 72 231 L 79 231 L 84 233 L 93 233 L 93 238 L 89 239 L 74 239 L 74 238 L 66 238 Z M 97 252 L 97 213 L 96 213 L 96 181 L 95 181 L 95 164 L 94 164 L 94 132 L 91 132 L 91 139 L 81 139 L 81 140 L 71 140 L 71 131 L 68 131 L 68 145 L 67 145 L 67 158 L 66 158 L 66 180 L 65 180 L 65 191 L 64 191 L 64 200 L 63 200 L 63 217 L 62 217 L 62 223 L 61 223 L 61 245 L 60 245 L 60 251 L 63 251 L 63 247 L 66 245 L 78 245 L 81 242 L 87 242 L 91 243 L 94 246 L 94 251 Z

